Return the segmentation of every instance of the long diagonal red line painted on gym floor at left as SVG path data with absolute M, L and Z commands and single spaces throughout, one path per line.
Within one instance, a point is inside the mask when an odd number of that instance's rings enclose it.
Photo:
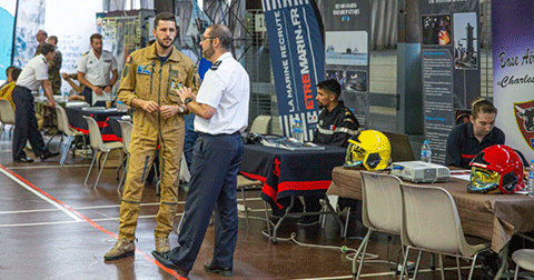
M 6 170 L 8 173 L 17 177 L 17 179 L 21 180 L 22 182 L 24 182 L 26 184 L 28 184 L 30 188 L 32 188 L 33 190 L 42 193 L 44 197 L 56 201 L 57 203 L 59 203 L 61 207 L 63 207 L 65 209 L 69 210 L 70 212 L 72 212 L 73 214 L 80 217 L 80 219 L 85 220 L 86 222 L 88 222 L 89 224 L 91 224 L 93 228 L 107 233 L 108 236 L 110 236 L 111 238 L 113 239 L 118 239 L 117 234 L 115 234 L 113 232 L 102 228 L 100 224 L 96 223 L 95 221 L 92 221 L 91 219 L 85 217 L 83 214 L 81 214 L 80 212 L 76 211 L 72 207 L 63 203 L 62 201 L 58 200 L 57 198 L 50 196 L 48 192 L 37 188 L 34 184 L 30 183 L 29 181 L 27 181 L 24 178 L 20 177 L 19 174 L 14 173 L 13 171 L 7 169 L 6 167 L 3 167 L 2 164 L 0 164 L 0 168 Z M 145 258 L 146 260 L 148 260 L 149 262 L 158 266 L 160 269 L 165 270 L 167 273 L 176 277 L 176 279 L 187 279 L 187 278 L 184 278 L 184 277 L 180 277 L 180 274 L 178 274 L 178 272 L 176 272 L 175 270 L 172 269 L 169 269 L 169 268 L 166 268 L 164 267 L 161 263 L 159 263 L 159 261 L 157 261 L 156 259 L 154 259 L 152 257 L 150 257 L 149 254 L 147 254 L 146 252 L 141 251 L 140 249 L 136 248 L 136 252 L 138 252 L 139 254 L 142 256 L 142 258 Z

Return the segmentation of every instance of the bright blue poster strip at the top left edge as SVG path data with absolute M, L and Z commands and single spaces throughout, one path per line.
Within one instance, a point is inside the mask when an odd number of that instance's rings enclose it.
M 17 1 L 0 0 L 0 81 L 8 79 L 6 69 L 11 66 L 16 11 Z

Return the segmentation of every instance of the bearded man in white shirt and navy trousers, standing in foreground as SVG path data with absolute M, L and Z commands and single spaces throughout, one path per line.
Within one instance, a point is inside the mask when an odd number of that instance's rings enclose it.
M 211 61 L 198 96 L 179 92 L 196 114 L 191 180 L 178 247 L 167 254 L 152 251 L 164 266 L 187 276 L 202 244 L 215 208 L 215 244 L 208 272 L 231 276 L 237 242 L 237 172 L 243 160 L 241 132 L 248 124 L 250 81 L 245 68 L 229 52 L 231 32 L 221 24 L 206 29 L 200 41 L 204 57 Z

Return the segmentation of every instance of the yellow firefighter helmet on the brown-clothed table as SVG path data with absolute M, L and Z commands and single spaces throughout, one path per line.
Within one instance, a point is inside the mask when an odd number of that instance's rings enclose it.
M 382 170 L 389 166 L 392 146 L 384 133 L 364 130 L 348 139 L 344 167 L 364 166 L 367 170 Z

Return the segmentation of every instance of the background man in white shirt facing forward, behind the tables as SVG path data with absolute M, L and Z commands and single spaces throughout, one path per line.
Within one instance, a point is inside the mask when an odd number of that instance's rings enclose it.
M 95 104 L 97 99 L 105 102 L 111 99 L 111 90 L 117 82 L 117 60 L 107 50 L 102 50 L 102 36 L 91 36 L 91 50 L 83 53 L 78 62 L 78 81 L 86 86 L 82 96 L 86 102 Z M 111 79 L 109 73 L 112 74 Z

